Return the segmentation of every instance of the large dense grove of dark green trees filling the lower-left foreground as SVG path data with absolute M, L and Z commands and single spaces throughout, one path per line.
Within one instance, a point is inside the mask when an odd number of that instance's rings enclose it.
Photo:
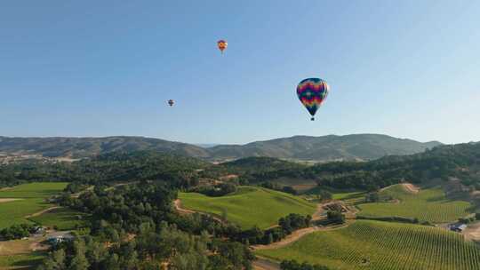
M 62 205 L 91 214 L 86 235 L 61 243 L 41 269 L 251 269 L 252 252 L 229 236 L 238 226 L 206 215 L 180 216 L 177 189 L 163 181 L 96 186 Z

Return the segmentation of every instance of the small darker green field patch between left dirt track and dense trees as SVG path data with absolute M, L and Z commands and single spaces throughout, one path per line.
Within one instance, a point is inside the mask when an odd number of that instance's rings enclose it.
M 45 212 L 40 216 L 28 219 L 39 223 L 42 226 L 56 226 L 60 231 L 68 231 L 85 226 L 86 218 L 88 217 L 82 212 L 66 208 L 59 208 Z

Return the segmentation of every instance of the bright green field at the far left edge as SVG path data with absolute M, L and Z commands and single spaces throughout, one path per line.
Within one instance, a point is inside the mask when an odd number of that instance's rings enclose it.
M 25 217 L 52 206 L 45 199 L 59 194 L 67 183 L 30 183 L 0 191 L 0 198 L 19 201 L 0 203 L 0 228 L 18 223 L 28 223 Z M 8 217 L 8 218 L 6 218 Z

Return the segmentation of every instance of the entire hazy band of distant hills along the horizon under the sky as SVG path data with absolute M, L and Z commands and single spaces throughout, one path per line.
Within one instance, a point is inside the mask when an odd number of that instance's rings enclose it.
M 384 155 L 411 155 L 438 145 L 441 143 L 437 141 L 421 143 L 412 139 L 397 139 L 380 134 L 294 136 L 256 141 L 245 145 L 218 145 L 215 147 L 199 147 L 164 139 L 128 136 L 104 138 L 0 137 L 0 153 L 4 154 L 79 158 L 116 151 L 154 150 L 215 161 L 247 156 L 270 156 L 318 162 L 371 160 Z

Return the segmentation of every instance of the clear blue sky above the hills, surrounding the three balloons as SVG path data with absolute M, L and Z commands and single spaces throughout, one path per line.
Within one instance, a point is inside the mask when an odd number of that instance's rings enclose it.
M 0 2 L 0 135 L 349 133 L 480 140 L 480 1 Z

